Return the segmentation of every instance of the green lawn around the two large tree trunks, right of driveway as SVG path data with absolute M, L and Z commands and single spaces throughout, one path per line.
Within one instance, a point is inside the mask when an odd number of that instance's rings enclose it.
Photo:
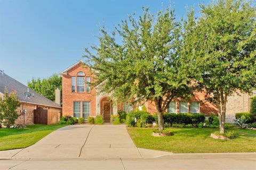
M 153 137 L 153 129 L 127 128 L 138 148 L 170 151 L 173 153 L 206 152 L 256 152 L 256 131 L 230 128 L 236 138 L 220 140 L 210 138 L 217 129 L 212 128 L 169 128 L 170 137 Z

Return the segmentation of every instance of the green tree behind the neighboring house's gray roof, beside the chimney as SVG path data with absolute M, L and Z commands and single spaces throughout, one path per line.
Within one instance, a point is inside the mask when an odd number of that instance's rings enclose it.
M 38 94 L 55 101 L 55 89 L 59 88 L 62 91 L 62 78 L 58 74 L 53 74 L 47 79 L 34 78 L 28 82 L 28 87 L 38 92 Z M 62 103 L 62 98 L 61 98 Z

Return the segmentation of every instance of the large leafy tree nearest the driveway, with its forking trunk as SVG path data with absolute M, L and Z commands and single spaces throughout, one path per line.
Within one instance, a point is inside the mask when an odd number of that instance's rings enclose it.
M 94 86 L 112 94 L 120 102 L 154 101 L 158 129 L 163 130 L 163 113 L 174 99 L 191 97 L 188 57 L 180 52 L 180 23 L 174 10 L 158 12 L 155 18 L 143 9 L 139 20 L 134 15 L 124 20 L 111 34 L 101 29 L 99 47 L 85 49 L 86 65 L 95 74 Z M 122 43 L 117 43 L 116 35 Z

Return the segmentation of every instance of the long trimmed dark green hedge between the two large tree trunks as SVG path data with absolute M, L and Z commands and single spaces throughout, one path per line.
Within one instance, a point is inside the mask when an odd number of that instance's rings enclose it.
M 204 114 L 172 114 L 163 115 L 164 122 L 170 124 L 197 124 L 205 121 Z

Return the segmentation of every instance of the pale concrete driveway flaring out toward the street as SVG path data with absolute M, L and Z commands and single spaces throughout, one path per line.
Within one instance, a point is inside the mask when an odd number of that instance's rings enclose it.
M 25 149 L 0 151 L 0 158 L 141 158 L 170 152 L 137 148 L 125 125 L 69 125 Z

